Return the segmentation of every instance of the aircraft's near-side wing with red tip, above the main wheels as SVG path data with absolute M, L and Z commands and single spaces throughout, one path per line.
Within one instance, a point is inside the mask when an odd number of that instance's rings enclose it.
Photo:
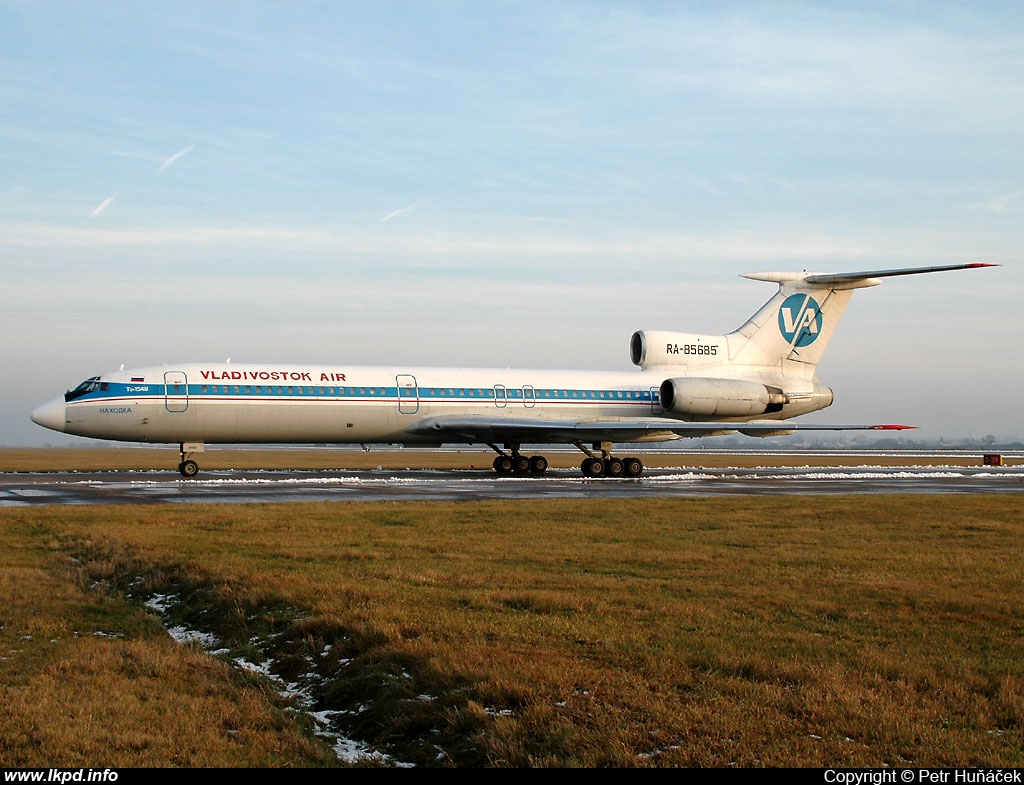
M 600 441 L 669 441 L 684 437 L 742 433 L 776 436 L 796 431 L 901 431 L 907 425 L 816 425 L 761 420 L 749 423 L 687 423 L 680 420 L 532 420 L 486 417 L 428 417 L 408 428 L 417 436 L 434 436 L 439 442 L 517 442 L 520 444 L 571 444 Z

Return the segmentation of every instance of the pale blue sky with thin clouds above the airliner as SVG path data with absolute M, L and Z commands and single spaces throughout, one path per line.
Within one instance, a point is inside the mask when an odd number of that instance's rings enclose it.
M 813 422 L 1024 437 L 1017 2 L 0 0 L 0 444 L 190 360 L 629 370 L 857 292 Z M 760 446 L 760 445 L 759 445 Z

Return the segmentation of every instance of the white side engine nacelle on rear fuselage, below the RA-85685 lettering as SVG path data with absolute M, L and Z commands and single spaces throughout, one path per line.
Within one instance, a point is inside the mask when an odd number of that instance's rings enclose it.
M 666 411 L 695 417 L 759 417 L 790 402 L 778 387 L 739 379 L 666 379 L 658 394 Z

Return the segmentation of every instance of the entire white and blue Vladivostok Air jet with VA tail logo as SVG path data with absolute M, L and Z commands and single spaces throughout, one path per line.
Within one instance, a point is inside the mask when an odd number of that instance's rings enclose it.
M 958 264 L 866 272 L 761 272 L 775 295 L 725 336 L 640 331 L 634 372 L 186 362 L 87 379 L 32 412 L 54 431 L 178 444 L 178 470 L 199 472 L 206 444 L 486 444 L 499 473 L 542 474 L 527 444 L 572 444 L 588 477 L 639 477 L 615 443 L 742 433 L 901 430 L 804 425 L 828 406 L 816 367 L 854 290 L 882 278 L 992 267 Z

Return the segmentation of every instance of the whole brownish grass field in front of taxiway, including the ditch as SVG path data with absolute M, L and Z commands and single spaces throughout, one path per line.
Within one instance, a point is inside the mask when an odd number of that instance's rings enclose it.
M 0 510 L 0 766 L 1019 767 L 1022 525 L 1016 494 Z

